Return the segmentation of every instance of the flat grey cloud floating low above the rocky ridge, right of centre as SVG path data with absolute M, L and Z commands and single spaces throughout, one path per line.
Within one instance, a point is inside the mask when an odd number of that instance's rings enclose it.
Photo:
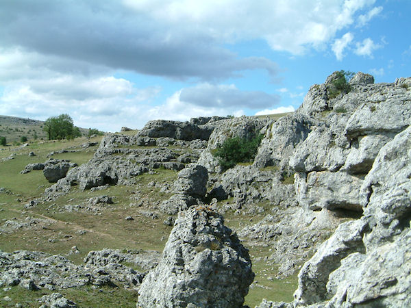
M 234 85 L 199 84 L 179 94 L 184 103 L 203 107 L 264 108 L 279 103 L 279 96 L 261 91 L 242 91 Z

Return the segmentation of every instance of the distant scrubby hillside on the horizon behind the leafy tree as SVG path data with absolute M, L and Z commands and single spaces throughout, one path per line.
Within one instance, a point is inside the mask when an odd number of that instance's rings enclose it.
M 8 144 L 20 142 L 21 137 L 27 140 L 47 140 L 47 134 L 42 130 L 44 121 L 16 116 L 0 116 L 0 136 L 7 139 Z M 87 136 L 88 129 L 80 128 L 83 136 Z

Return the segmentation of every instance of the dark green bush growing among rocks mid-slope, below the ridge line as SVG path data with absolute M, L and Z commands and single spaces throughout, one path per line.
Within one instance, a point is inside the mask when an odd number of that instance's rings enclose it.
M 257 135 L 250 140 L 239 137 L 228 138 L 212 154 L 219 159 L 219 164 L 223 170 L 227 170 L 238 163 L 249 162 L 253 159 L 262 138 L 262 135 Z

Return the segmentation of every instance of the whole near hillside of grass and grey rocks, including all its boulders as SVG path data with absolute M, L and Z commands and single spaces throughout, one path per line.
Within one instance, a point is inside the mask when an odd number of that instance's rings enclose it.
M 409 306 L 411 78 L 336 78 L 282 116 L 0 151 L 0 304 Z

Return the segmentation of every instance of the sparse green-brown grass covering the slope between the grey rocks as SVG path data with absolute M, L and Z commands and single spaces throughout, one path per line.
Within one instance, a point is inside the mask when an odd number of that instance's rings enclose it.
M 160 192 L 158 188 L 148 188 L 147 183 L 151 181 L 160 183 L 173 181 L 177 177 L 177 173 L 171 170 L 159 169 L 155 175 L 138 176 L 136 177 L 136 185 L 132 187 L 116 185 L 97 192 L 81 192 L 74 188 L 69 194 L 53 202 L 40 203 L 30 209 L 24 208 L 25 203 L 41 196 L 45 188 L 51 185 L 45 180 L 42 171 L 33 170 L 26 175 L 21 175 L 19 172 L 27 164 L 45 162 L 47 153 L 60 149 L 71 149 L 77 152 L 62 153 L 53 155 L 53 157 L 71 159 L 72 162 L 83 164 L 92 157 L 97 146 L 84 149 L 81 145 L 86 141 L 98 141 L 100 138 L 42 142 L 30 144 L 16 152 L 11 151 L 12 147 L 10 146 L 5 151 L 0 150 L 0 158 L 8 157 L 10 153 L 16 153 L 14 159 L 0 162 L 0 187 L 12 192 L 12 194 L 0 194 L 0 224 L 12 218 L 24 220 L 27 216 L 50 218 L 53 222 L 46 227 L 36 228 L 34 231 L 22 228 L 14 233 L 0 235 L 0 250 L 11 252 L 18 249 L 27 249 L 65 255 L 72 246 L 77 246 L 80 253 L 78 255 L 69 255 L 69 259 L 77 264 L 82 262 L 88 251 L 105 247 L 162 251 L 171 231 L 171 227 L 162 223 L 166 216 L 160 215 L 158 219 L 151 219 L 144 212 L 150 211 L 153 204 L 168 198 L 169 194 Z M 36 156 L 29 157 L 27 154 L 30 151 L 34 151 Z M 88 198 L 102 194 L 112 196 L 114 205 L 101 211 L 101 215 L 89 212 L 60 211 L 65 205 L 83 204 Z M 147 201 L 145 205 L 141 207 L 134 205 L 141 200 Z M 270 206 L 269 204 L 264 205 L 267 209 Z M 133 216 L 134 220 L 127 221 L 125 220 L 126 216 Z M 233 213 L 227 213 L 225 216 L 226 224 L 236 229 L 240 224 L 252 224 L 258 221 L 264 214 L 259 214 L 259 217 L 256 217 L 235 216 Z M 251 218 L 254 222 L 250 222 Z M 78 233 L 79 230 L 84 230 L 86 233 L 80 234 Z M 245 245 L 247 246 L 247 243 Z M 267 268 L 262 259 L 271 255 L 270 248 L 266 246 L 251 246 L 248 248 L 253 260 L 253 271 L 256 273 L 255 281 L 258 281 L 259 285 L 264 285 L 266 288 L 255 287 L 251 289 L 246 298 L 246 304 L 253 307 L 258 305 L 262 298 L 292 300 L 292 292 L 296 288 L 297 277 L 290 277 L 284 281 L 269 280 L 269 277 L 275 277 L 276 268 Z M 82 307 L 90 307 L 97 305 L 97 303 L 99 307 L 112 307 L 114 303 L 123 303 L 123 307 L 128 307 L 129 304 L 130 307 L 135 306 L 136 292 L 125 291 L 121 288 L 115 290 L 101 288 L 101 290 L 101 292 L 97 292 L 85 287 L 81 290 L 63 290 L 62 294 Z M 1 300 L 7 295 L 12 298 L 12 302 L 10 302 L 12 306 L 15 303 L 24 303 L 25 307 L 36 307 L 38 305 L 37 298 L 48 293 L 47 290 L 29 292 L 27 290 L 22 291 L 21 287 L 12 287 L 9 292 L 0 290 L 0 305 L 9 304 Z

